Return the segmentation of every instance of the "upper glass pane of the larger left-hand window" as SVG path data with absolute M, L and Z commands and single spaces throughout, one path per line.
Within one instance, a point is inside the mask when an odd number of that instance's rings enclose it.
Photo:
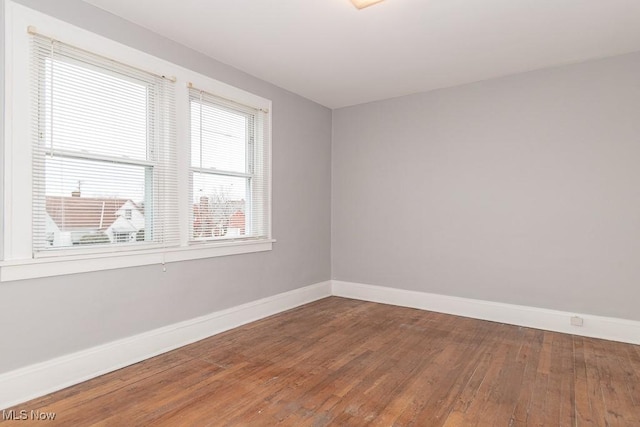
M 147 159 L 146 84 L 49 58 L 44 79 L 48 149 Z

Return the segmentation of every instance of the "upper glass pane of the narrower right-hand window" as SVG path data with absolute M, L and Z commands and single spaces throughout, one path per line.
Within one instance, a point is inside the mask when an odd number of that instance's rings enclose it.
M 246 114 L 191 101 L 192 167 L 247 172 L 248 136 Z

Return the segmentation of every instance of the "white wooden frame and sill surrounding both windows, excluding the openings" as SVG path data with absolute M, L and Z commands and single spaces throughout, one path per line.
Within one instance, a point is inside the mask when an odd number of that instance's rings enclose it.
M 178 196 L 180 200 L 180 245 L 177 247 L 96 252 L 87 248 L 74 255 L 36 258 L 32 250 L 32 146 L 30 94 L 30 35 L 33 26 L 41 34 L 61 40 L 98 55 L 150 72 L 176 78 L 176 129 Z M 189 91 L 188 83 L 220 97 L 271 111 L 271 101 L 210 77 L 172 64 L 147 53 L 122 45 L 64 21 L 34 11 L 10 0 L 5 1 L 5 135 L 4 199 L 0 282 L 114 268 L 167 263 L 225 255 L 261 252 L 272 249 L 271 221 L 268 238 L 261 240 L 212 241 L 192 245 L 189 242 Z M 271 114 L 267 116 L 271 129 Z M 270 133 L 270 132 L 269 132 Z M 271 135 L 265 150 L 270 159 Z M 271 170 L 271 165 L 268 165 Z M 270 173 L 270 172 L 269 172 Z M 271 218 L 271 176 L 268 182 L 268 211 Z

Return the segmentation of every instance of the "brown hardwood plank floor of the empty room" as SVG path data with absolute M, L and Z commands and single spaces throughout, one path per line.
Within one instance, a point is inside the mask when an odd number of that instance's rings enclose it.
M 640 346 L 331 297 L 13 409 L 64 426 L 640 426 Z

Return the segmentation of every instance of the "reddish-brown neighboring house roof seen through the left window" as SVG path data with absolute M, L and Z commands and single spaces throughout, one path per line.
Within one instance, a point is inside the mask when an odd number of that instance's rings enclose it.
M 106 230 L 129 199 L 47 196 L 47 213 L 61 231 Z M 131 202 L 133 206 L 138 206 Z

